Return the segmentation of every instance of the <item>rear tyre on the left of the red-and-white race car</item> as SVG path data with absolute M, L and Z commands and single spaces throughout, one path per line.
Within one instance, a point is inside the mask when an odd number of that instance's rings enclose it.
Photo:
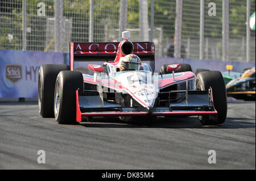
M 69 66 L 56 64 L 40 66 L 38 73 L 38 106 L 42 117 L 54 117 L 53 96 L 55 81 L 61 70 L 69 70 Z

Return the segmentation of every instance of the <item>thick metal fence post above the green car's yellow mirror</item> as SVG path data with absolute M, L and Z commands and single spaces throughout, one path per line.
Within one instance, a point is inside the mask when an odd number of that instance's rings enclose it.
M 229 61 L 229 0 L 222 1 L 222 61 Z

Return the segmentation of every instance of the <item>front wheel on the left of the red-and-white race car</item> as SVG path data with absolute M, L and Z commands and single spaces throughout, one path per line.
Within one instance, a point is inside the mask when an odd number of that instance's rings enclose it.
M 76 90 L 84 91 L 84 79 L 79 71 L 60 71 L 54 94 L 54 115 L 59 124 L 76 123 Z

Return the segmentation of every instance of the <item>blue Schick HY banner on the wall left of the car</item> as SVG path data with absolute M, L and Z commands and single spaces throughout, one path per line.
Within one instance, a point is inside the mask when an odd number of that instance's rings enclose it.
M 0 98 L 36 98 L 40 66 L 63 63 L 64 53 L 0 50 Z

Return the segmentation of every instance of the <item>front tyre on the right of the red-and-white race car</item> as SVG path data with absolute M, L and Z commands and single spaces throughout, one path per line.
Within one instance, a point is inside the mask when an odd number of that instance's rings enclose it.
M 196 89 L 208 90 L 212 87 L 213 104 L 218 112 L 217 116 L 199 116 L 204 125 L 215 125 L 224 123 L 228 110 L 226 100 L 226 86 L 220 71 L 203 71 L 197 74 Z

